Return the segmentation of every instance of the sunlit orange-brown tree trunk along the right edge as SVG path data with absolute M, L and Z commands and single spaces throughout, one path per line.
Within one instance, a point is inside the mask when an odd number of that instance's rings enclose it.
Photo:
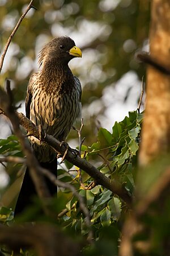
M 170 1 L 153 0 L 151 6 L 150 53 L 170 68 Z M 152 67 L 147 69 L 146 111 L 139 163 L 145 166 L 169 151 L 170 77 Z

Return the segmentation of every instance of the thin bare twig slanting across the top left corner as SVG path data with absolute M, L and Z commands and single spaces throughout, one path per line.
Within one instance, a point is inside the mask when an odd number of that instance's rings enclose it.
M 9 47 L 10 43 L 11 43 L 11 40 L 12 40 L 13 36 L 15 35 L 16 31 L 18 30 L 18 28 L 19 28 L 19 26 L 20 26 L 20 23 L 22 22 L 22 20 L 24 19 L 25 15 L 28 13 L 28 11 L 29 11 L 31 8 L 34 8 L 34 9 L 35 9 L 35 7 L 32 6 L 32 2 L 33 2 L 33 0 L 31 0 L 31 2 L 29 3 L 27 9 L 24 11 L 24 13 L 22 14 L 22 16 L 19 18 L 18 23 L 16 24 L 14 30 L 12 31 L 10 37 L 9 37 L 8 40 L 7 40 L 6 46 L 5 46 L 5 48 L 4 48 L 3 52 L 2 52 L 2 56 L 1 56 L 1 59 L 0 59 L 0 73 L 1 73 L 1 71 L 2 71 L 3 61 L 4 61 L 4 59 L 5 59 L 5 55 L 6 55 L 7 49 L 8 49 L 8 47 Z

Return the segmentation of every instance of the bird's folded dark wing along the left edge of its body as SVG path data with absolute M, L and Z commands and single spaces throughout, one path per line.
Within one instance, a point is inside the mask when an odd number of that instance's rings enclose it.
M 37 75 L 39 72 L 33 73 L 33 75 L 30 77 L 29 82 L 28 82 L 28 87 L 27 87 L 27 94 L 25 98 L 25 112 L 26 112 L 26 117 L 30 119 L 30 105 L 32 101 L 32 89 L 33 89 L 33 84 L 35 84 Z

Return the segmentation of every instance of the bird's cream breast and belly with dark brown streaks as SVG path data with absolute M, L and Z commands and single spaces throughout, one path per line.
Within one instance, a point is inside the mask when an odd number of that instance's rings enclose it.
M 41 125 L 46 133 L 53 135 L 59 141 L 64 141 L 69 134 L 76 118 L 81 111 L 80 82 L 74 77 L 71 90 L 53 90 L 46 92 L 44 86 L 37 82 L 32 85 L 32 101 L 30 105 L 30 119 L 35 125 Z M 54 160 L 57 152 L 35 137 L 29 138 L 33 149 L 38 152 L 40 162 Z

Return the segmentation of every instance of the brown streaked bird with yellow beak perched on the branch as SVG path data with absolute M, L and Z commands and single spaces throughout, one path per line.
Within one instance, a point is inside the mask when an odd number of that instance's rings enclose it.
M 45 44 L 39 53 L 41 69 L 29 79 L 25 98 L 27 118 L 60 142 L 65 141 L 76 119 L 81 116 L 82 87 L 68 65 L 74 57 L 82 57 L 82 51 L 68 36 L 54 38 Z M 29 142 L 40 165 L 57 176 L 57 152 L 33 136 L 29 137 Z M 47 179 L 46 184 L 54 195 L 56 186 Z M 35 195 L 35 186 L 27 168 L 15 215 L 31 205 Z

